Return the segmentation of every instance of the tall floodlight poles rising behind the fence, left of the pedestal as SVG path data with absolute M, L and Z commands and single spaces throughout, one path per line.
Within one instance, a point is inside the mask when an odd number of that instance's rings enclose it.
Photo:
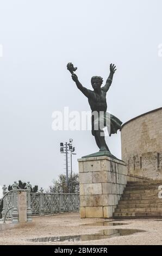
M 66 185 L 67 185 L 67 187 L 68 187 L 68 157 L 67 157 L 68 151 L 70 151 L 70 154 L 71 154 L 71 176 L 72 176 L 72 154 L 76 155 L 73 153 L 73 151 L 75 150 L 75 148 L 72 147 L 73 139 L 70 139 L 69 142 L 70 143 L 66 142 L 65 144 L 63 142 L 60 143 L 60 153 L 63 153 L 66 156 L 65 160 L 66 160 Z

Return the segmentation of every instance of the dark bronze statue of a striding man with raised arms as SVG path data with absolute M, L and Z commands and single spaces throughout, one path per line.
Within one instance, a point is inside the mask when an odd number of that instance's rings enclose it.
M 78 89 L 86 97 L 88 97 L 89 105 L 92 111 L 92 135 L 95 136 L 99 151 L 102 151 L 102 153 L 103 151 L 107 151 L 106 155 L 114 157 L 113 155 L 111 155 L 110 150 L 105 143 L 103 128 L 108 127 L 109 136 L 111 136 L 112 133 L 116 133 L 117 130 L 121 130 L 122 122 L 118 118 L 114 117 L 114 115 L 107 113 L 106 101 L 106 95 L 113 81 L 116 66 L 114 64 L 110 64 L 110 75 L 103 87 L 101 87 L 103 83 L 102 77 L 93 76 L 91 78 L 91 84 L 94 90 L 89 90 L 82 86 L 82 84 L 78 80 L 77 75 L 73 72 L 76 71 L 77 68 L 74 68 L 72 63 L 67 64 L 67 69 L 71 72 L 72 80 L 76 82 Z M 96 115 L 96 113 L 98 113 L 98 115 Z M 95 129 L 95 127 L 97 127 L 95 126 L 96 124 L 98 124 L 98 129 Z

